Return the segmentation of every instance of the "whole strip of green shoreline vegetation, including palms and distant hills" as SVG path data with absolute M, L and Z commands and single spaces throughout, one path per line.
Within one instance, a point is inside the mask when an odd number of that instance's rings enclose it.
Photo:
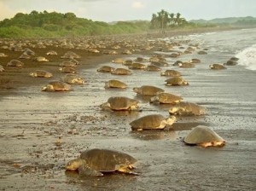
M 127 34 L 177 28 L 208 26 L 256 26 L 256 18 L 226 18 L 215 20 L 185 20 L 181 14 L 170 14 L 164 9 L 153 14 L 150 21 L 118 21 L 112 24 L 78 18 L 73 13 L 38 12 L 18 13 L 12 19 L 0 21 L 0 38 L 58 38 L 91 35 Z

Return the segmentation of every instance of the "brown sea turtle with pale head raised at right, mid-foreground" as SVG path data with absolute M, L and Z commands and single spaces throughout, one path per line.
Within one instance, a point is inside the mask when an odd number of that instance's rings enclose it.
M 143 116 L 142 118 L 135 119 L 130 123 L 131 130 L 163 130 L 170 128 L 176 121 L 175 116 L 165 118 L 160 114 L 150 114 Z

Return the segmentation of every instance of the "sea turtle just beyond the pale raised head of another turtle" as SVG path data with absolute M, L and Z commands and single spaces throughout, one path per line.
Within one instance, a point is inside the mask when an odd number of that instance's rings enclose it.
M 170 107 L 169 113 L 174 115 L 203 115 L 206 113 L 206 108 L 193 102 L 182 101 Z

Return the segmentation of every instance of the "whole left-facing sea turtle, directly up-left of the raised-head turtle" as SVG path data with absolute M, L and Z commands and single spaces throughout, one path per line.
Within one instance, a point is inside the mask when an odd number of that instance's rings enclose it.
M 138 102 L 139 101 L 125 96 L 112 96 L 108 98 L 107 102 L 102 103 L 100 107 L 102 109 L 111 109 L 113 111 L 131 111 L 138 110 Z

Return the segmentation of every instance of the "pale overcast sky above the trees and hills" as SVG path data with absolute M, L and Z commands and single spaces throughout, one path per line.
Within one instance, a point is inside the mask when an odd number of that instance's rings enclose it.
M 73 12 L 78 17 L 105 22 L 151 20 L 152 14 L 161 9 L 180 13 L 186 20 L 256 17 L 256 0 L 0 0 L 0 20 L 32 10 Z

